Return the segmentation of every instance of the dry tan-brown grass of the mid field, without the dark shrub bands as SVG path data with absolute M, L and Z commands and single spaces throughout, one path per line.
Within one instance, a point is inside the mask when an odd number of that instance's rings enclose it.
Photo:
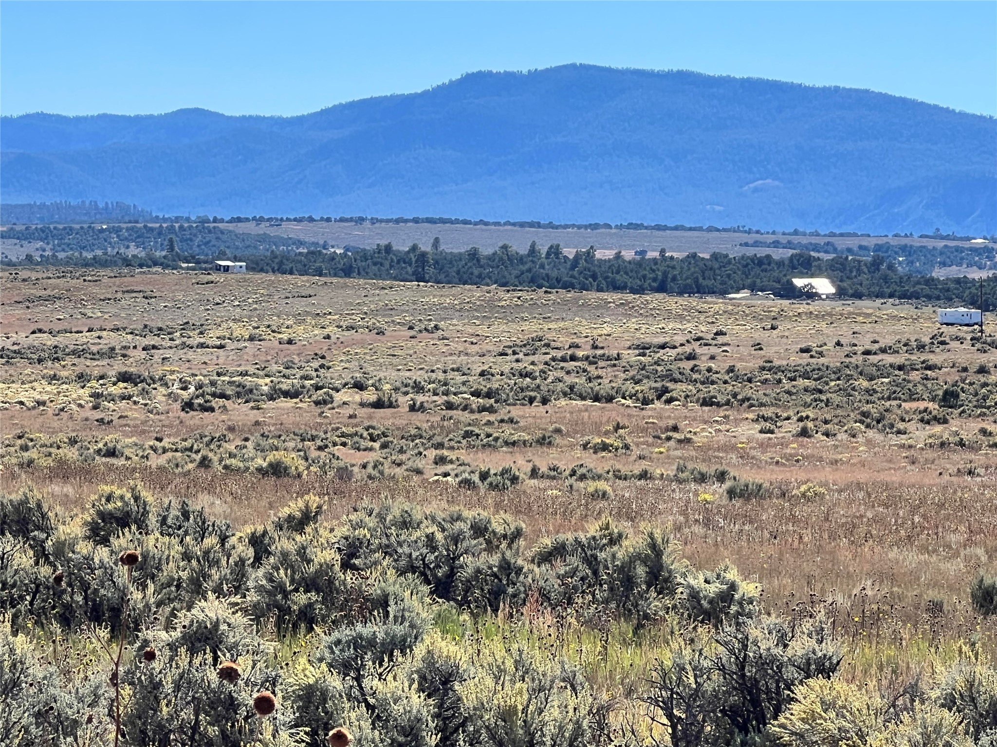
M 84 283 L 85 278 L 97 282 Z M 634 343 L 709 338 L 717 329 L 727 335 L 715 338 L 710 347 L 696 348 L 701 356 L 698 365 L 712 363 L 723 372 L 730 365 L 750 370 L 766 360 L 803 363 L 809 357 L 800 348 L 821 343 L 828 346 L 821 349 L 822 363 L 839 364 L 855 348 L 833 348 L 835 340 L 856 343 L 861 349 L 879 342 L 926 340 L 936 332 L 933 315 L 926 311 L 875 303 L 730 303 L 254 275 L 196 284 L 211 279 L 166 272 L 8 275 L 2 289 L 2 344 L 8 351 L 29 346 L 43 352 L 56 345 L 86 350 L 115 346 L 128 358 L 89 360 L 77 355 L 41 363 L 26 357 L 8 361 L 0 368 L 4 435 L 22 429 L 83 437 L 114 433 L 147 442 L 155 436 L 175 439 L 205 431 L 238 439 L 262 431 L 326 432 L 381 423 L 398 431 L 420 425 L 447 437 L 496 417 L 409 412 L 404 397 L 400 409 L 358 409 L 365 394 L 351 389 L 339 392 L 330 407 L 279 399 L 261 408 L 231 401 L 224 411 L 182 413 L 168 390 L 155 390 L 147 399 L 157 401 L 159 414 L 126 399 L 104 411 L 112 424 L 98 425 L 100 412 L 82 407 L 58 412 L 60 402 L 86 403 L 85 387 L 67 382 L 75 372 L 130 369 L 165 372 L 170 380 L 179 380 L 219 369 L 252 370 L 257 364 L 305 364 L 325 356 L 329 375 L 347 379 L 362 374 L 401 386 L 433 371 L 463 368 L 470 375 L 460 375 L 470 380 L 488 367 L 508 372 L 530 360 L 545 360 L 550 351 L 532 359 L 496 356 L 503 347 L 514 349 L 537 335 L 555 351 L 575 343 L 580 352 L 587 352 L 594 338 L 605 352 L 619 353 L 627 363 L 636 361 Z M 430 323 L 442 330 L 408 329 Z M 772 329 L 773 323 L 778 329 Z M 144 324 L 167 329 L 151 332 L 142 329 Z M 27 335 L 39 327 L 77 332 Z M 103 329 L 88 333 L 88 327 Z M 259 330 L 266 332 L 265 339 L 250 342 L 248 333 Z M 325 335 L 330 339 L 323 339 Z M 286 337 L 296 344 L 278 344 Z M 917 358 L 941 364 L 944 368 L 932 375 L 942 381 L 980 379 L 972 372 L 986 357 L 965 338 L 950 337 L 951 344 L 944 349 Z M 198 341 L 224 342 L 226 347 L 198 350 L 194 346 Z M 143 352 L 150 343 L 161 349 Z M 764 350 L 753 349 L 756 343 Z M 716 360 L 708 361 L 709 355 Z M 960 367 L 970 373 L 959 373 Z M 63 378 L 56 381 L 53 373 Z M 602 382 L 612 383 L 621 381 L 626 371 L 612 364 L 594 368 L 567 364 L 556 373 L 570 380 L 597 373 Z M 902 381 L 924 373 L 895 375 Z M 919 404 L 926 403 L 903 406 Z M 764 585 L 770 609 L 827 608 L 840 634 L 853 642 L 851 665 L 856 678 L 868 672 L 900 676 L 920 660 L 919 651 L 976 632 L 993 644 L 994 623 L 972 614 L 967 594 L 973 575 L 979 570 L 992 573 L 997 564 L 997 457 L 985 447 L 985 438 L 971 448 L 925 448 L 926 439 L 942 426 L 916 422 L 902 436 L 867 430 L 854 438 L 843 434 L 802 438 L 794 435 L 795 422 L 765 435 L 759 433 L 751 411 L 691 403 L 634 407 L 555 400 L 501 411 L 517 418 L 510 426 L 516 431 L 549 432 L 560 426 L 563 432 L 551 446 L 447 451 L 476 465 L 512 464 L 523 472 L 530 463 L 568 467 L 584 462 L 600 470 L 647 466 L 663 472 L 673 470 L 678 461 L 711 469 L 722 466 L 739 477 L 764 480 L 772 497 L 728 502 L 722 486 L 645 480 L 613 481 L 611 498 L 593 500 L 585 495 L 583 484 L 553 480 L 527 481 L 507 492 L 467 491 L 447 482 L 428 482 L 432 468 L 422 477 L 340 481 L 314 473 L 295 480 L 205 469 L 173 472 L 162 466 L 113 461 L 56 461 L 29 468 L 8 463 L 0 474 L 0 489 L 34 483 L 66 509 L 78 510 L 99 484 L 138 478 L 158 495 L 193 499 L 236 524 L 260 522 L 292 497 L 308 492 L 329 496 L 333 516 L 369 500 L 460 504 L 523 520 L 530 540 L 578 529 L 610 514 L 633 526 L 672 525 L 692 562 L 703 567 L 732 561 L 742 574 Z M 944 427 L 972 434 L 992 426 L 990 418 L 992 414 L 963 418 Z M 629 452 L 594 455 L 580 447 L 587 437 L 605 435 L 614 422 L 626 426 Z M 661 439 L 670 423 L 688 434 L 684 442 Z M 337 453 L 352 463 L 370 457 L 343 448 Z M 809 482 L 828 494 L 797 496 L 795 491 Z M 718 500 L 702 503 L 697 499 L 702 490 L 717 494 Z

